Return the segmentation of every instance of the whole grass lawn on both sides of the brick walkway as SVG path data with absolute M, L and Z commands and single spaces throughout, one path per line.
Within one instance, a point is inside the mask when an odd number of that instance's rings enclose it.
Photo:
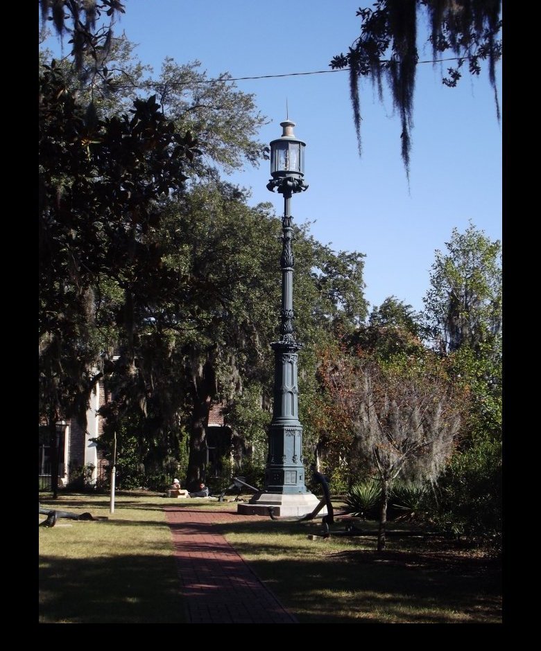
M 39 528 L 40 623 L 185 623 L 163 507 L 236 510 L 151 493 L 117 494 L 114 514 L 108 495 L 40 502 L 108 517 Z M 309 539 L 320 521 L 232 516 L 216 528 L 300 623 L 501 623 L 501 567 L 479 550 L 393 536 L 377 553 L 371 536 Z

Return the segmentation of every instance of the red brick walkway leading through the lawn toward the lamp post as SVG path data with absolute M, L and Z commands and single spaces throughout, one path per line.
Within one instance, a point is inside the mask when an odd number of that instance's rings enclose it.
M 166 507 L 182 594 L 191 624 L 298 624 L 255 576 L 215 522 L 257 515 Z

